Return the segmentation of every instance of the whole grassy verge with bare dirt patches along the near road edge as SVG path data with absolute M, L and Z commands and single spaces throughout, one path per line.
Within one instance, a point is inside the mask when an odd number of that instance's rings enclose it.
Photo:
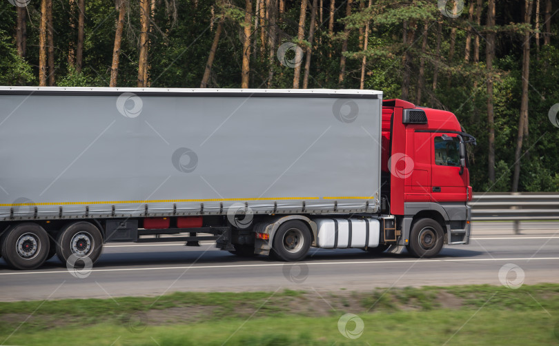
M 355 340 L 340 316 L 362 318 Z M 346 329 L 352 332 L 355 322 Z M 559 345 L 559 285 L 0 303 L 0 345 Z

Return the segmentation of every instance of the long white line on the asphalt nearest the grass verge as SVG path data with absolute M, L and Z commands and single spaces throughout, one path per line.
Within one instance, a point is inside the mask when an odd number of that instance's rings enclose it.
M 92 269 L 91 272 L 134 272 L 139 270 L 173 270 L 173 269 L 210 269 L 210 268 L 243 268 L 243 267 L 279 267 L 283 265 L 355 265 L 355 264 L 385 264 L 385 263 L 440 263 L 440 262 L 495 262 L 495 261 L 549 261 L 559 260 L 559 257 L 537 258 L 453 258 L 453 259 L 415 259 L 395 261 L 353 261 L 353 262 L 295 262 L 295 263 L 262 263 L 246 265 L 187 265 L 181 267 L 147 267 L 147 268 L 119 268 L 119 269 Z M 9 272 L 0 275 L 26 275 L 26 274 L 68 274 L 67 270 L 52 272 Z

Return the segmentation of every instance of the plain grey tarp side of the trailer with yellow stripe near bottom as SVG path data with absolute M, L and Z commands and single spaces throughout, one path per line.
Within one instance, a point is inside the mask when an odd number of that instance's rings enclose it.
M 88 89 L 0 89 L 1 219 L 379 208 L 380 92 Z

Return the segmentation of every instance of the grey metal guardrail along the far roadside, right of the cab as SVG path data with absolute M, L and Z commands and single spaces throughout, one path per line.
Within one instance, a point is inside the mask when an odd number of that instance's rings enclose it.
M 556 192 L 474 193 L 469 205 L 473 221 L 514 221 L 517 234 L 520 221 L 559 220 Z

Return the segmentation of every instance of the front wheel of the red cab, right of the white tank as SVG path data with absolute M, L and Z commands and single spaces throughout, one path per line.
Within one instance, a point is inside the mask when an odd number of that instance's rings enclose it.
M 422 218 L 413 224 L 409 236 L 408 252 L 418 258 L 438 255 L 444 244 L 440 223 L 432 218 Z

